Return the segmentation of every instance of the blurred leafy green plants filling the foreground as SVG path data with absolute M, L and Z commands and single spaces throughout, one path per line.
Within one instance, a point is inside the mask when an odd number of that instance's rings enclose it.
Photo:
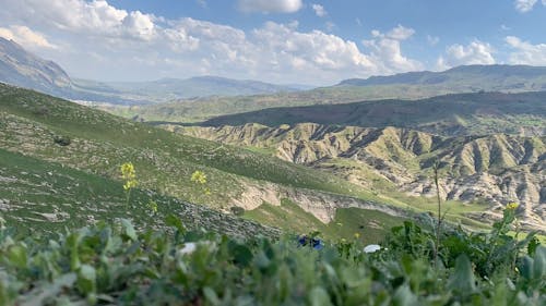
M 505 224 L 509 224 L 510 211 L 505 219 Z M 173 216 L 167 224 L 175 227 L 170 234 L 136 230 L 126 219 L 57 236 L 16 237 L 4 229 L 0 232 L 0 303 L 544 305 L 546 302 L 546 248 L 537 245 L 525 254 L 529 240 L 499 238 L 505 232 L 502 225 L 487 234 L 452 230 L 450 234 L 461 241 L 458 245 L 447 243 L 439 247 L 444 266 L 435 268 L 430 265 L 432 248 L 427 246 L 428 241 L 434 243 L 434 234 L 411 222 L 394 229 L 382 250 L 373 254 L 363 253 L 356 241 L 327 243 L 316 250 L 298 247 L 297 240 L 288 236 L 280 241 L 259 236 L 242 241 L 203 231 L 188 232 Z M 405 238 L 411 242 L 401 245 Z M 488 244 L 487 238 L 497 241 Z M 482 259 L 490 253 L 515 259 L 517 269 L 505 269 L 509 265 L 487 266 Z

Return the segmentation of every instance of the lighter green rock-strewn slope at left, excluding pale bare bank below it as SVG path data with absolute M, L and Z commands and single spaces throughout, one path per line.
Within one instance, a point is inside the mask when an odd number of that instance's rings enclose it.
M 328 173 L 246 149 L 175 135 L 25 89 L 0 87 L 0 145 L 9 151 L 59 162 L 107 180 L 119 180 L 119 166 L 132 161 L 142 187 L 216 208 L 226 208 L 229 198 L 238 198 L 245 183 L 272 182 L 380 199 Z M 56 145 L 54 138 L 59 135 L 70 137 L 72 143 Z M 194 170 L 207 174 L 211 195 L 189 182 Z M 95 194 L 82 196 L 93 198 Z

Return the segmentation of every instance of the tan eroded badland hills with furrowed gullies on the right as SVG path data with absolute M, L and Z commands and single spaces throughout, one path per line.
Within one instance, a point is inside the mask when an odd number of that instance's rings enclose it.
M 407 128 L 332 126 L 311 123 L 180 127 L 175 132 L 264 150 L 295 163 L 328 170 L 384 193 L 403 189 L 434 196 L 431 173 L 439 161 L 441 196 L 494 203 L 495 215 L 509 201 L 521 204 L 527 224 L 545 229 L 546 137 L 506 134 L 447 137 Z

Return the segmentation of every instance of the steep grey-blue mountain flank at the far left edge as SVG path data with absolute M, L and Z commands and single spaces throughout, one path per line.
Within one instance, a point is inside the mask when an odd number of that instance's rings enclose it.
M 0 37 L 0 82 L 63 96 L 72 81 L 57 63 L 24 50 L 13 40 Z

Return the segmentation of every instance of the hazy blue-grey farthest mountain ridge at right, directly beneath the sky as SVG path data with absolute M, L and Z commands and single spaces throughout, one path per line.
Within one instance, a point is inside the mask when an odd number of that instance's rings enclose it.
M 462 65 L 442 72 L 407 72 L 351 78 L 339 86 L 422 85 L 453 91 L 531 91 L 546 89 L 546 66 Z

